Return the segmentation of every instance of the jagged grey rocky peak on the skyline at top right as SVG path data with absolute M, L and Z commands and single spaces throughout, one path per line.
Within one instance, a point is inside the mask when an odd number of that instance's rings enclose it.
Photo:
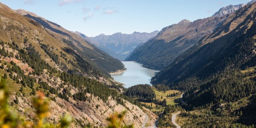
M 216 13 L 214 13 L 214 15 L 212 15 L 212 16 L 223 16 L 223 15 L 232 13 L 232 12 L 242 8 L 243 6 L 245 6 L 245 4 L 228 5 L 228 6 L 225 6 L 223 8 L 220 8 L 220 10 L 217 11 Z

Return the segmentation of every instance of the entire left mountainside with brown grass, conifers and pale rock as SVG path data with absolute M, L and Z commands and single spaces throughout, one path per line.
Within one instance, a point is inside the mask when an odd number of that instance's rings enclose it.
M 6 79 L 11 111 L 25 121 L 38 121 L 32 98 L 41 91 L 49 101 L 50 123 L 57 123 L 60 116 L 68 113 L 73 118 L 73 128 L 107 126 L 105 118 L 123 110 L 127 111 L 123 123 L 132 122 L 139 127 L 145 113 L 152 117 L 150 125 L 155 122 L 154 113 L 118 91 L 122 86 L 106 81 L 107 71 L 102 69 L 107 67 L 102 68 L 103 61 L 92 57 L 102 58 L 108 65 L 107 61 L 120 61 L 76 34 L 53 32 L 2 3 L 0 24 L 0 75 Z

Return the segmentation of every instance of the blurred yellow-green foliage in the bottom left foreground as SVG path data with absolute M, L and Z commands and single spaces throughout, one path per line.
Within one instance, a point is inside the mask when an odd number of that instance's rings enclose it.
M 66 114 L 60 119 L 59 124 L 55 125 L 45 121 L 49 116 L 49 101 L 43 92 L 37 92 L 33 98 L 33 105 L 36 109 L 37 121 L 26 121 L 16 112 L 12 112 L 8 105 L 8 92 L 6 91 L 6 80 L 0 78 L 0 128 L 70 128 L 73 121 L 71 115 Z M 107 128 L 133 128 L 133 125 L 122 125 L 126 111 L 114 113 L 107 120 Z

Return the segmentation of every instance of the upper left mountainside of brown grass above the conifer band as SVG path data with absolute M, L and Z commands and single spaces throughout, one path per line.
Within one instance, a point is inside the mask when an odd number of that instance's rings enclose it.
M 20 48 L 32 45 L 43 60 L 49 61 L 50 66 L 85 76 L 104 77 L 105 81 L 106 77 L 110 77 L 110 72 L 124 68 L 120 61 L 58 24 L 25 10 L 21 10 L 19 15 L 19 10 L 16 13 L 2 3 L 0 10 L 1 24 L 6 26 L 1 28 L 1 41 L 15 42 Z M 66 53 L 66 48 L 72 49 L 79 56 Z M 60 57 L 64 54 L 65 58 Z M 81 61 L 76 62 L 77 58 Z M 87 69 L 84 69 L 83 63 L 87 63 Z

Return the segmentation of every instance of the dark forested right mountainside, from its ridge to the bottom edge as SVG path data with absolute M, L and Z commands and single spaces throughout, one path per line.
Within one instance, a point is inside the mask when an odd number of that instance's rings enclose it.
M 194 123 L 178 122 L 182 128 L 256 125 L 255 42 L 253 3 L 232 13 L 215 32 L 152 78 L 153 84 L 184 91 L 182 106 L 189 112 L 181 113 L 179 120 Z M 163 117 L 171 117 L 170 113 L 164 114 Z

